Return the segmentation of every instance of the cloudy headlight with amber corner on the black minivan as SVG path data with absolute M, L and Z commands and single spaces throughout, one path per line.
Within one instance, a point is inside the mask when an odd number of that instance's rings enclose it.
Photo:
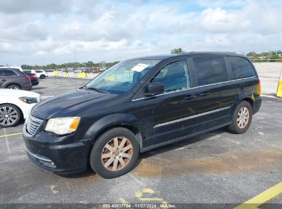
M 80 124 L 80 117 L 51 118 L 46 124 L 45 131 L 64 135 L 76 131 L 78 124 Z

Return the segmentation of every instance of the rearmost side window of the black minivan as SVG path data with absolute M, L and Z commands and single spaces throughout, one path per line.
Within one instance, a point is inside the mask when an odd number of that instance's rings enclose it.
M 231 56 L 228 59 L 233 71 L 234 79 L 255 76 L 254 69 L 246 58 Z

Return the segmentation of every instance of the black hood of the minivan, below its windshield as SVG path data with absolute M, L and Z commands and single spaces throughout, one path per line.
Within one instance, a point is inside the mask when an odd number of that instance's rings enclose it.
M 73 114 L 83 111 L 89 105 L 89 102 L 95 105 L 94 102 L 103 102 L 116 96 L 115 94 L 104 94 L 92 90 L 75 89 L 36 104 L 32 109 L 32 115 L 43 120 L 74 116 Z

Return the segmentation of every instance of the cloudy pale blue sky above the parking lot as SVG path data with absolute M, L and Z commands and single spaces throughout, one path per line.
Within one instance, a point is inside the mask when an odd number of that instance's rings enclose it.
M 0 0 L 0 65 L 282 50 L 282 1 Z

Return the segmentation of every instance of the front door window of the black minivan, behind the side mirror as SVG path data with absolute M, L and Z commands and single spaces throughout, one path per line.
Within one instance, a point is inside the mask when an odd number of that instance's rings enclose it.
M 163 83 L 165 92 L 189 89 L 190 76 L 186 61 L 177 61 L 166 65 L 152 82 Z

